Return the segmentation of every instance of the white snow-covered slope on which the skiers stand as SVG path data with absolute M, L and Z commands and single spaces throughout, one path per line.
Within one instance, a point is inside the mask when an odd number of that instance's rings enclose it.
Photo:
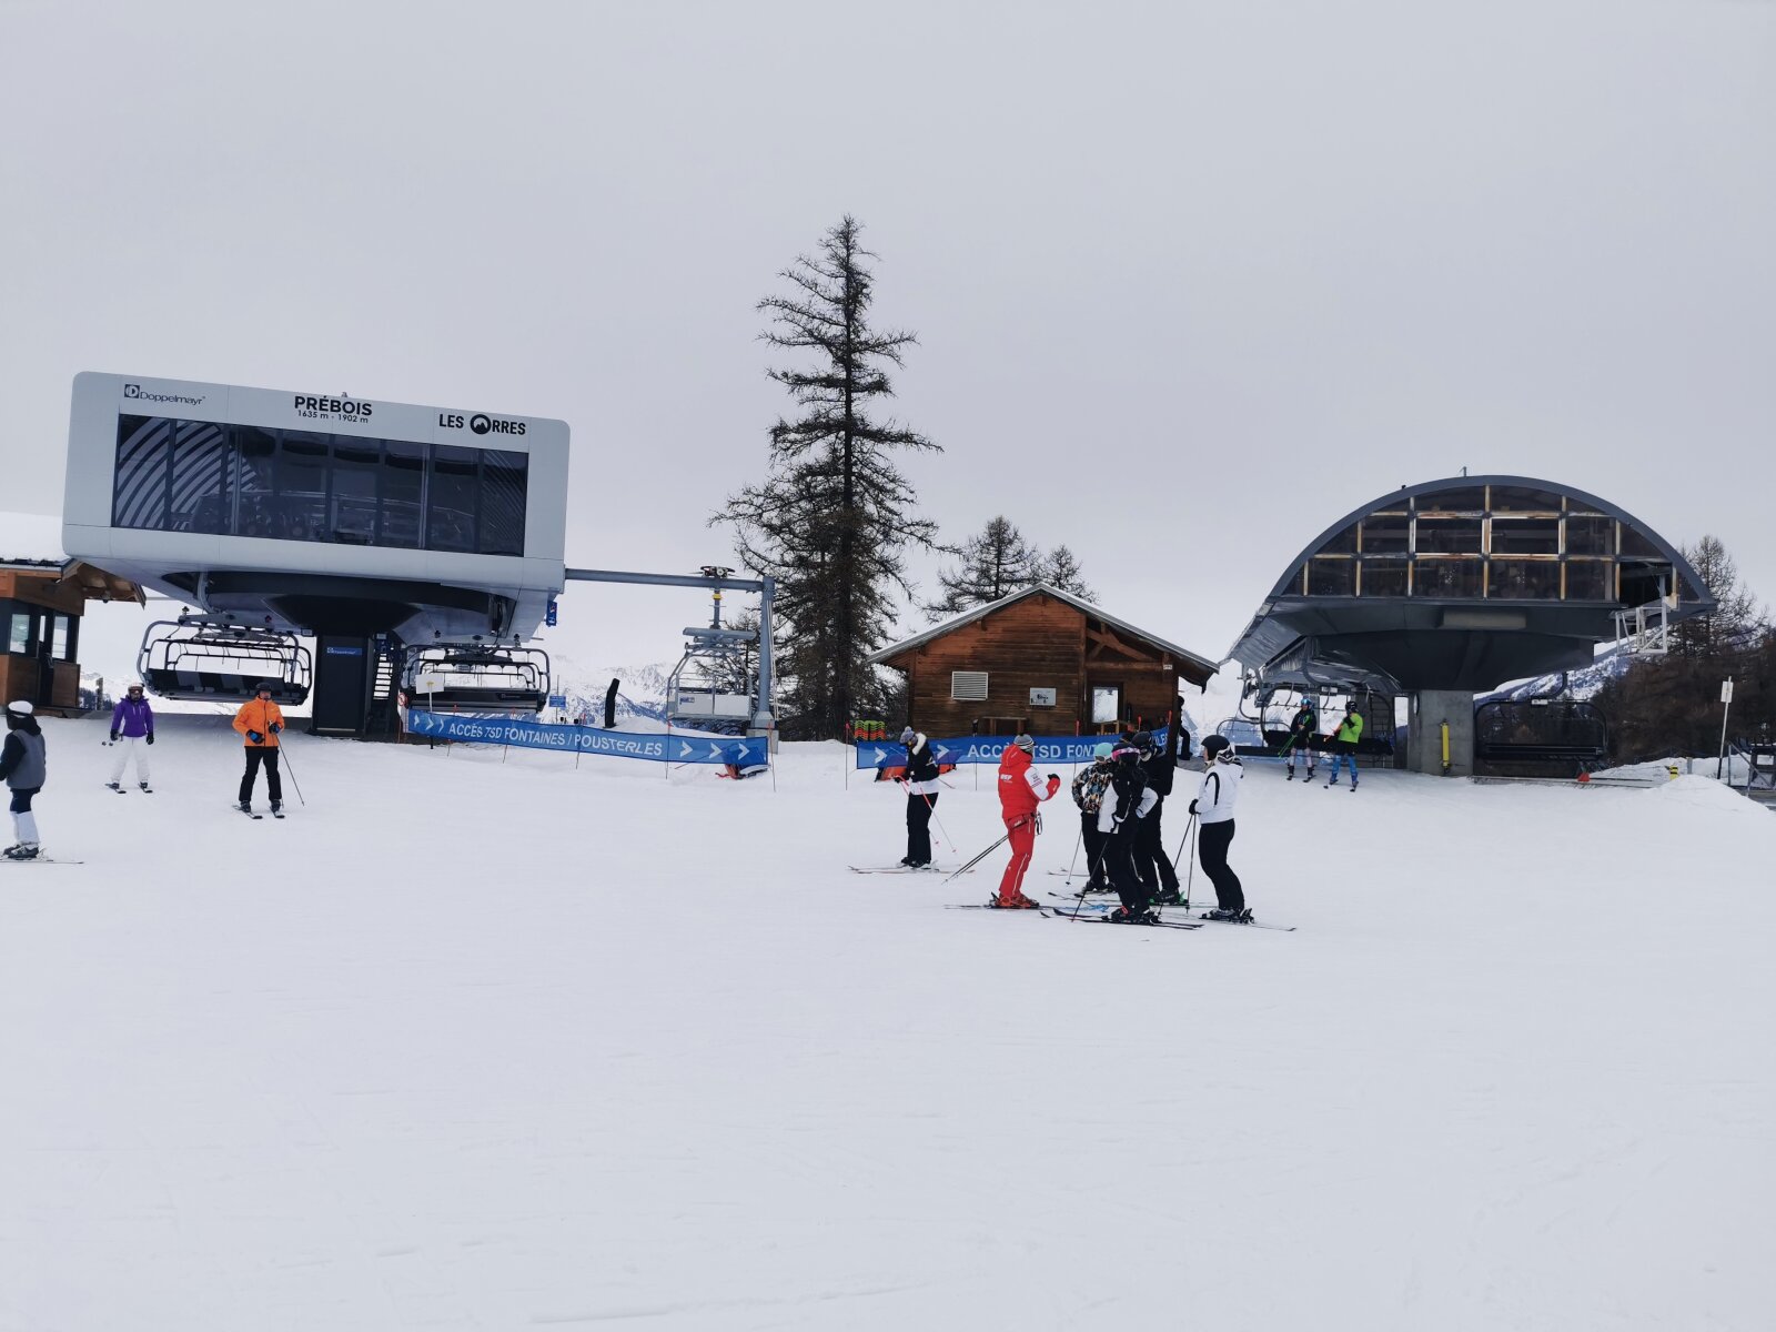
M 293 735 L 249 822 L 226 721 L 121 797 L 99 726 L 85 863 L 0 865 L 5 1332 L 1771 1325 L 1776 819 L 1701 778 L 1254 764 L 1300 929 L 1183 932 L 849 874 L 902 803 L 836 746 Z

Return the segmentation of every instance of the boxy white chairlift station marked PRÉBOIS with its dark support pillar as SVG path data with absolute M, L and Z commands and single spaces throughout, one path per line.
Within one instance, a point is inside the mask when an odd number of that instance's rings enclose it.
M 378 643 L 536 632 L 567 483 L 565 421 L 82 373 L 62 545 L 211 627 L 314 636 L 314 725 L 357 732 Z

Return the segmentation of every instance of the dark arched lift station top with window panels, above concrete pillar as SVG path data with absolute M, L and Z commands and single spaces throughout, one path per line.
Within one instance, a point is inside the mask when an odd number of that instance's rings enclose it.
M 1682 552 L 1590 492 L 1455 476 L 1382 496 L 1277 579 L 1229 657 L 1261 686 L 1492 689 L 1591 664 L 1616 613 L 1714 607 Z

